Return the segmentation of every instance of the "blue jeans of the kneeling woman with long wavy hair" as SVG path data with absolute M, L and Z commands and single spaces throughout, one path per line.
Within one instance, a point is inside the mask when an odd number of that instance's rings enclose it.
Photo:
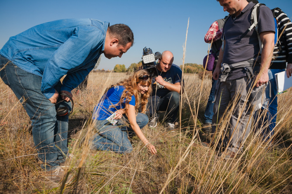
M 138 113 L 136 122 L 140 128 L 148 123 L 146 114 Z M 119 154 L 130 153 L 133 150 L 128 139 L 128 134 L 134 133 L 127 119 L 119 119 L 117 124 L 112 125 L 107 120 L 98 120 L 95 124 L 97 133 L 93 140 L 93 147 L 97 150 L 112 150 Z

